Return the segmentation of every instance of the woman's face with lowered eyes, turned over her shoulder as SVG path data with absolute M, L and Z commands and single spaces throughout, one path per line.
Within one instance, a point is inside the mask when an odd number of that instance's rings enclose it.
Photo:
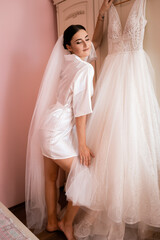
M 67 49 L 83 60 L 88 57 L 91 50 L 88 33 L 83 29 L 76 32 L 71 39 L 71 45 L 67 45 Z

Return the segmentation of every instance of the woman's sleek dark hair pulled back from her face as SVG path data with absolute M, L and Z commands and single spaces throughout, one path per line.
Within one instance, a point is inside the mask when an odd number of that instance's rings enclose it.
M 72 37 L 75 33 L 77 33 L 79 30 L 85 30 L 85 27 L 82 25 L 70 25 L 63 33 L 63 46 L 65 49 L 67 49 L 66 45 L 71 45 Z

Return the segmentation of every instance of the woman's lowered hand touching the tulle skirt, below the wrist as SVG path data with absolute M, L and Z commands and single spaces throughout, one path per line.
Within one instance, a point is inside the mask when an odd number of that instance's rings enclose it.
M 91 158 L 94 157 L 94 154 L 86 145 L 82 145 L 79 146 L 79 156 L 80 163 L 89 167 L 89 165 L 91 164 Z

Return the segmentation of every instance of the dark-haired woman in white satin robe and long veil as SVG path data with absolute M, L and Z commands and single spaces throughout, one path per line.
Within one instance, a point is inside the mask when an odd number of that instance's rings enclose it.
M 95 48 L 101 42 L 104 12 L 111 3 L 105 0 L 100 9 L 93 36 Z M 94 50 L 90 54 L 91 46 L 94 47 L 80 25 L 66 29 L 63 45 L 67 50 L 63 49 L 60 38 L 53 49 L 29 132 L 26 213 L 28 227 L 42 230 L 47 225 L 46 230 L 50 232 L 60 228 L 71 240 L 74 239 L 72 222 L 78 208 L 69 202 L 66 214 L 58 224 L 56 180 L 59 166 L 69 172 L 75 157 L 80 156 L 81 164 L 86 166 L 94 157 L 85 142 L 85 125 L 86 115 L 92 112 L 94 72 L 86 58 L 93 60 L 95 54 Z

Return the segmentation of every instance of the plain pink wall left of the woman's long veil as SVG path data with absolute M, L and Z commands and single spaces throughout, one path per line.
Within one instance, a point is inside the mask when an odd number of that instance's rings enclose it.
M 0 201 L 24 201 L 28 128 L 57 39 L 50 0 L 0 2 Z

